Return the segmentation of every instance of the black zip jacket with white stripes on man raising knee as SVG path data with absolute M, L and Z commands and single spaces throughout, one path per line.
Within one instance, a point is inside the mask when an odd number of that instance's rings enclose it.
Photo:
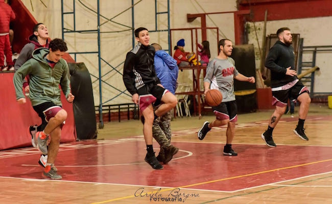
M 134 95 L 137 90 L 148 83 L 160 84 L 154 69 L 155 49 L 138 43 L 127 53 L 123 81 L 129 93 Z

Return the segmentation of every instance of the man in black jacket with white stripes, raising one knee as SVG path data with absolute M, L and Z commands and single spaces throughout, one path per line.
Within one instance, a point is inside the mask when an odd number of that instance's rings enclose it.
M 162 169 L 162 165 L 153 151 L 152 146 L 152 124 L 154 119 L 167 113 L 177 104 L 177 99 L 173 93 L 164 89 L 154 69 L 155 49 L 150 45 L 148 29 L 138 28 L 135 31 L 137 45 L 127 53 L 123 81 L 132 101 L 138 104 L 144 118 L 143 134 L 147 145 L 147 155 L 145 161 L 154 169 Z M 157 110 L 153 111 L 152 104 L 161 104 Z

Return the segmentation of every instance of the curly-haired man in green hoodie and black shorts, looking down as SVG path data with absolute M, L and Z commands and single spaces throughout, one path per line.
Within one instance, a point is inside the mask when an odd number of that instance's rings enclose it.
M 29 98 L 33 109 L 48 122 L 45 129 L 36 135 L 38 149 L 42 154 L 49 155 L 43 175 L 51 179 L 62 179 L 54 166 L 60 145 L 61 127 L 67 118 L 67 112 L 61 107 L 59 85 L 67 101 L 72 103 L 74 100 L 74 95 L 70 93 L 68 65 L 62 59 L 66 51 L 67 46 L 63 40 L 52 40 L 49 48 L 35 49 L 32 58 L 15 72 L 13 78 L 16 100 L 19 104 L 24 104 L 26 98 L 22 92 L 22 84 L 23 79 L 29 75 Z

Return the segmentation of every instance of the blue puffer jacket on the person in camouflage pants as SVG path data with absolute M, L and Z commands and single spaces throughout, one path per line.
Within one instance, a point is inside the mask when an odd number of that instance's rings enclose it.
M 179 73 L 176 60 L 164 50 L 157 50 L 154 56 L 154 67 L 161 85 L 175 94 L 176 80 L 178 79 Z

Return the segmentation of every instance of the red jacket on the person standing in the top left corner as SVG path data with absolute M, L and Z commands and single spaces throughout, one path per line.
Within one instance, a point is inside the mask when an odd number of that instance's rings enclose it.
M 15 13 L 4 0 L 0 2 L 0 13 L 0 33 L 9 33 L 9 23 L 15 19 Z

